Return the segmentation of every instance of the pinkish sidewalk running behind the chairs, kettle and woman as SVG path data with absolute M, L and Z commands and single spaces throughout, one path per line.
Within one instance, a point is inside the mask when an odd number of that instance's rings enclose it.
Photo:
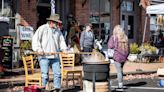
M 158 68 L 164 68 L 164 63 L 133 63 L 126 62 L 123 68 L 124 74 L 138 74 L 138 73 L 155 73 Z M 82 66 L 76 66 L 75 69 L 82 70 Z M 141 69 L 142 71 L 136 71 Z M 38 69 L 39 70 L 39 69 Z M 7 83 L 7 85 L 23 84 L 25 82 L 24 68 L 13 69 L 12 72 L 5 73 L 6 76 L 0 76 L 0 86 Z M 8 75 L 8 76 L 7 76 Z M 110 75 L 116 75 L 114 64 L 110 64 Z M 2 86 L 0 87 L 0 89 Z

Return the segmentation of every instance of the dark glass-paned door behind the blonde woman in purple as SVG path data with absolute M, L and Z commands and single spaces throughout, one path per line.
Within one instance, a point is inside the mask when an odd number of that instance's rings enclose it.
M 136 41 L 135 1 L 125 0 L 121 5 L 121 25 L 130 42 Z

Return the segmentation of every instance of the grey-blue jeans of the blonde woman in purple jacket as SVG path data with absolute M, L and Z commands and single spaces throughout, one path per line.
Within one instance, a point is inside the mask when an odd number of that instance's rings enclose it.
M 117 70 L 118 83 L 123 83 L 123 65 L 124 63 L 114 62 Z

